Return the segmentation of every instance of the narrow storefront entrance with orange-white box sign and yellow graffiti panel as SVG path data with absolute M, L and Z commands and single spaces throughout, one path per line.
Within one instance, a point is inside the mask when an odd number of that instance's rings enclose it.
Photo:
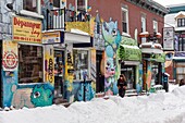
M 45 81 L 50 79 L 51 77 L 49 76 L 52 75 L 52 79 L 54 79 L 54 98 L 62 98 L 65 60 L 64 32 L 53 30 L 42 33 L 42 45 L 45 47 Z

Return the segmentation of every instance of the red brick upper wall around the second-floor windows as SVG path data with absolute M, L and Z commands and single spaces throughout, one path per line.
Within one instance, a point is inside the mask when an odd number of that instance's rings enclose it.
M 75 0 L 67 0 L 67 4 L 69 3 L 72 3 L 74 5 Z M 141 32 L 141 13 L 146 14 L 147 32 L 153 33 L 152 21 L 156 20 L 158 21 L 158 32 L 162 34 L 163 17 L 146 9 L 132 4 L 125 0 L 89 0 L 88 4 L 91 7 L 91 11 L 89 13 L 92 16 L 96 16 L 96 11 L 98 10 L 101 19 L 103 19 L 104 21 L 109 22 L 110 17 L 112 17 L 113 21 L 118 21 L 119 29 L 122 30 L 122 24 L 121 24 L 122 3 L 128 7 L 128 24 L 130 24 L 128 26 L 130 26 L 130 35 L 132 38 L 134 38 L 135 28 L 137 28 L 138 34 Z

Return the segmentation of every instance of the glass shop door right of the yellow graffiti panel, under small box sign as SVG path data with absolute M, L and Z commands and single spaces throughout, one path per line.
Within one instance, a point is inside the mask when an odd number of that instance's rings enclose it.
M 54 50 L 54 97 L 62 97 L 64 82 L 64 51 Z

